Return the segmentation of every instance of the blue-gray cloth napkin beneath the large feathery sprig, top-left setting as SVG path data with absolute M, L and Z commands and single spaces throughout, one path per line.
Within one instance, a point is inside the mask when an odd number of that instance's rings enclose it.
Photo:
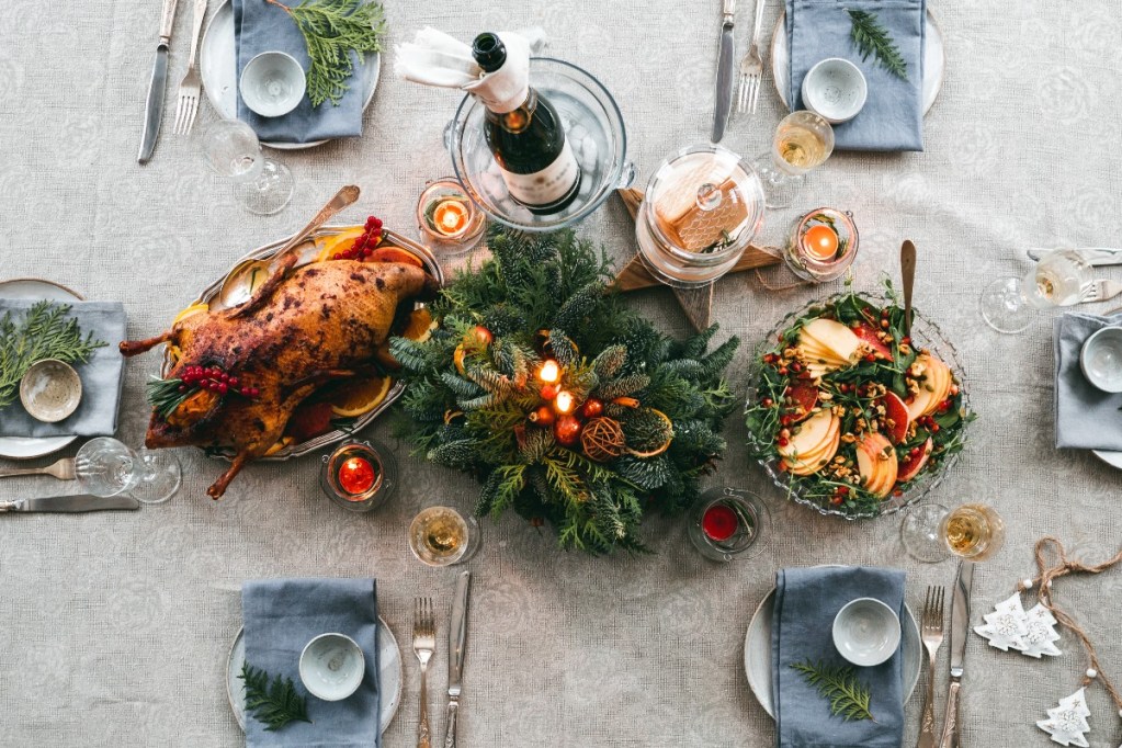
M 279 0 L 286 6 L 298 4 L 297 0 Z M 233 0 L 233 36 L 238 50 L 238 81 L 246 63 L 263 52 L 286 52 L 304 67 L 311 67 L 304 37 L 296 24 L 280 8 L 265 0 Z M 369 76 L 374 74 L 373 58 L 366 56 L 366 65 L 355 59 L 355 72 L 350 77 L 350 89 L 335 107 L 324 101 L 316 108 L 305 95 L 287 114 L 260 117 L 241 100 L 238 94 L 238 119 L 249 124 L 257 137 L 267 142 L 314 142 L 329 138 L 348 138 L 362 135 L 362 104 Z

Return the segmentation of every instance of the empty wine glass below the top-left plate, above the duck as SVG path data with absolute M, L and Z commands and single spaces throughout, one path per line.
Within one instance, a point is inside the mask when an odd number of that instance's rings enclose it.
M 292 200 L 292 172 L 266 158 L 254 128 L 219 120 L 202 133 L 203 158 L 217 174 L 233 181 L 233 195 L 250 213 L 273 215 Z

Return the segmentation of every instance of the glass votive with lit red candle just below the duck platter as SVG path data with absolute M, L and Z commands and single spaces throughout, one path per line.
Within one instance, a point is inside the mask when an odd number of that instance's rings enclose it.
M 348 511 L 373 511 L 397 491 L 397 461 L 373 440 L 343 442 L 323 455 L 320 487 Z

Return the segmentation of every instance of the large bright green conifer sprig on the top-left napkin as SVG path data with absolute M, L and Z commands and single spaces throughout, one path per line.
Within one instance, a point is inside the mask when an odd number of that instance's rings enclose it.
M 365 53 L 381 52 L 386 18 L 381 4 L 364 0 L 302 0 L 289 8 L 278 0 L 265 0 L 283 8 L 304 36 L 309 59 L 307 98 L 312 107 L 324 101 L 339 105 L 355 72 L 351 50 L 365 62 Z

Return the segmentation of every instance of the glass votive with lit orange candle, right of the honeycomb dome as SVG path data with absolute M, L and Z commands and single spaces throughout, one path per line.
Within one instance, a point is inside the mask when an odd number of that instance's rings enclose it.
M 818 207 L 795 222 L 783 260 L 803 280 L 835 280 L 853 265 L 858 243 L 853 213 Z

